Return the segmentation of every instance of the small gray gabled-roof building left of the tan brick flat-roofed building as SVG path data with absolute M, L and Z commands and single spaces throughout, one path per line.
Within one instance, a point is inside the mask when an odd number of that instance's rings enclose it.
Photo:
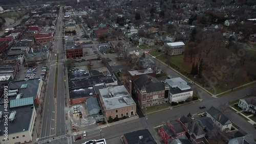
M 98 114 L 100 111 L 98 100 L 95 97 L 88 98 L 86 100 L 86 106 L 90 115 Z

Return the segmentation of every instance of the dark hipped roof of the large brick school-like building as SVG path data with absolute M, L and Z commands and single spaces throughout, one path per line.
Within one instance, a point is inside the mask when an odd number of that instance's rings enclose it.
M 139 90 L 144 86 L 146 92 L 165 90 L 164 83 L 159 82 L 155 77 L 151 77 L 149 75 L 142 75 L 134 81 L 134 84 Z

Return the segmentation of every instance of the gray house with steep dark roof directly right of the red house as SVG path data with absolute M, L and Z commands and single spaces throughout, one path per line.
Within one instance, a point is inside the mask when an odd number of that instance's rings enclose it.
M 209 143 L 205 138 L 206 132 L 202 127 L 200 127 L 197 119 L 191 116 L 185 117 L 184 115 L 180 118 L 180 122 L 184 124 L 187 129 L 187 137 L 192 143 L 198 143 L 203 141 L 203 143 Z

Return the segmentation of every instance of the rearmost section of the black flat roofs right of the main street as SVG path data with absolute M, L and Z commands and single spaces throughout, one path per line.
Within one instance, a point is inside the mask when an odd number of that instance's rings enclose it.
M 83 70 L 83 69 L 78 69 L 78 68 L 68 70 L 69 81 L 86 79 L 86 78 L 90 78 L 88 70 Z

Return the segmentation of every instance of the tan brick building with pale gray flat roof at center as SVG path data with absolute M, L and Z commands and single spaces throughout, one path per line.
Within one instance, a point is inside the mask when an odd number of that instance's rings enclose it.
M 99 99 L 108 120 L 136 114 L 136 103 L 123 85 L 100 89 Z

